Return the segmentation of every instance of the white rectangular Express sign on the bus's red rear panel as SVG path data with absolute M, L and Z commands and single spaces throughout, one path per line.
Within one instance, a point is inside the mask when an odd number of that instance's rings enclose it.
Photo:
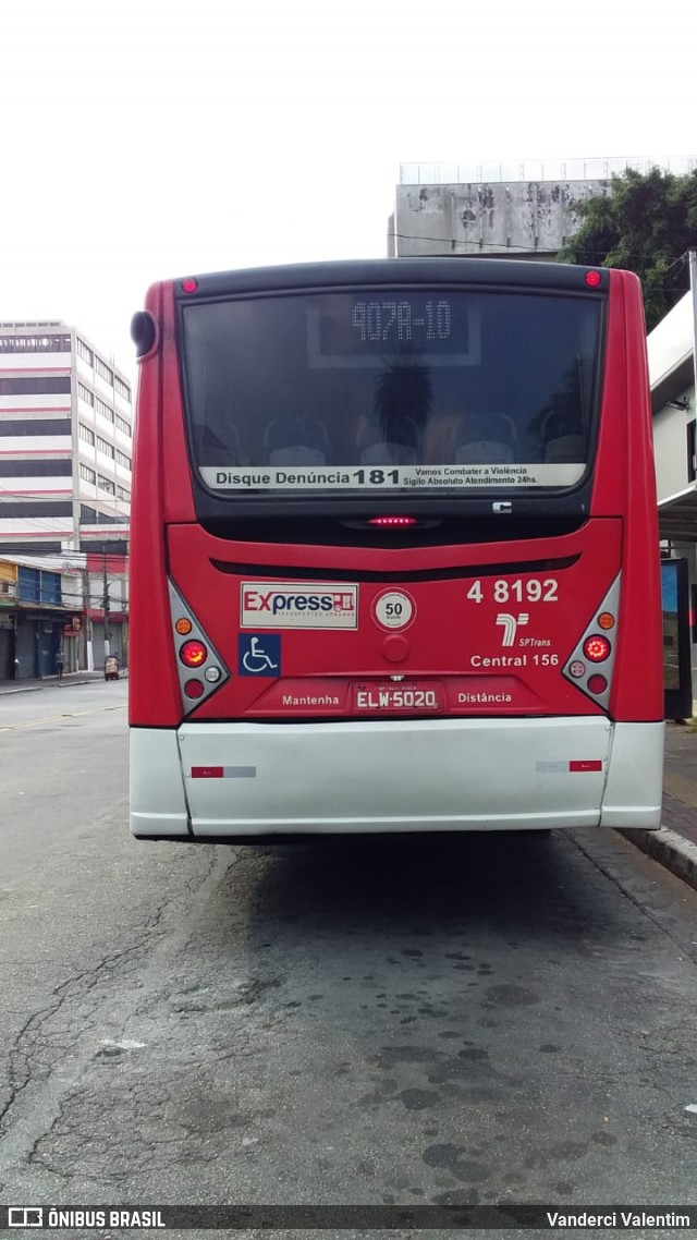
M 358 587 L 316 582 L 242 582 L 242 629 L 357 629 Z

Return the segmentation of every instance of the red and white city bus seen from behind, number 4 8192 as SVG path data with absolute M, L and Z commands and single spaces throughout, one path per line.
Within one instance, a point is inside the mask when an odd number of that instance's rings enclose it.
M 660 826 L 634 275 L 210 274 L 133 336 L 135 836 Z

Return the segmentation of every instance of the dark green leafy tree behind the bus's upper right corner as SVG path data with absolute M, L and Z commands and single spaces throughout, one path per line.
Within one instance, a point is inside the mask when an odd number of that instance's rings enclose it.
M 587 198 L 577 210 L 580 228 L 559 259 L 635 272 L 651 331 L 690 288 L 687 260 L 681 259 L 697 246 L 697 171 L 628 170 L 613 176 L 609 193 Z

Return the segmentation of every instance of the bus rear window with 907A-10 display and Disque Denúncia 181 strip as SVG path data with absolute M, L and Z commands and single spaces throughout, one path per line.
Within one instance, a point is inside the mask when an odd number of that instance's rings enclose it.
M 603 301 L 367 288 L 182 309 L 189 438 L 218 496 L 573 487 Z

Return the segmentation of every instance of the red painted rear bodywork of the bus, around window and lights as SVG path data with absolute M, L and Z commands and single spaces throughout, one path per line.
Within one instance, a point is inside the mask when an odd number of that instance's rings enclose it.
M 135 435 L 131 725 L 176 728 L 185 717 L 356 718 L 362 709 L 357 687 L 393 676 L 406 676 L 409 683 L 439 682 L 442 715 L 606 713 L 623 722 L 662 719 L 651 409 L 635 277 L 610 273 L 600 435 L 585 523 L 564 536 L 516 541 L 506 529 L 497 542 L 398 551 L 246 543 L 202 529 L 185 436 L 172 285 L 154 286 L 146 309 L 160 339 L 141 362 Z M 562 667 L 618 577 L 620 611 L 610 634 L 615 663 L 604 712 Z M 198 707 L 182 702 L 167 578 L 231 673 Z M 541 583 L 547 599 L 537 598 L 537 587 L 528 596 L 531 580 Z M 242 585 L 253 596 L 255 582 L 288 593 L 308 582 L 317 590 L 322 583 L 355 585 L 356 626 L 264 624 L 257 630 L 249 615 L 242 624 Z M 477 582 L 480 601 L 469 595 Z M 497 582 L 507 583 L 506 599 L 504 587 L 495 598 Z M 386 630 L 375 619 L 376 600 L 387 590 L 404 593 L 413 603 L 413 619 L 403 630 Z M 502 645 L 497 616 L 504 606 L 518 626 L 515 647 Z M 238 675 L 241 635 L 268 631 L 280 637 L 280 677 Z M 518 662 L 501 662 L 507 658 Z

